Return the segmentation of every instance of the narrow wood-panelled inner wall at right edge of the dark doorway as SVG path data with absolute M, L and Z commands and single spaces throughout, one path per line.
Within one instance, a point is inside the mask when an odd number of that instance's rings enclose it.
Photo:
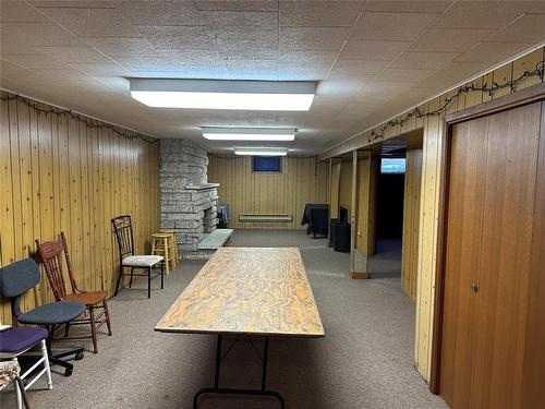
M 422 149 L 407 151 L 401 249 L 401 288 L 416 300 Z

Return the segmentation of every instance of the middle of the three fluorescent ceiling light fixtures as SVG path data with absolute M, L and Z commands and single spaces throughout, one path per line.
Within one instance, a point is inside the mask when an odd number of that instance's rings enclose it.
M 210 141 L 293 141 L 295 130 L 280 128 L 202 127 L 203 136 Z

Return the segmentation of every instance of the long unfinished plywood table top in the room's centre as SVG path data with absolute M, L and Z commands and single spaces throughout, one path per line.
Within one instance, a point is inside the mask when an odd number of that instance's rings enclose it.
M 296 248 L 221 248 L 155 330 L 324 337 Z

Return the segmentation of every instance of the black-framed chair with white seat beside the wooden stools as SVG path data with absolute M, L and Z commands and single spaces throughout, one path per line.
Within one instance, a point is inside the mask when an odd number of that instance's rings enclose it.
M 134 237 L 131 216 L 118 216 L 111 219 L 113 232 L 118 241 L 119 249 L 119 276 L 116 284 L 116 293 L 118 294 L 121 276 L 130 275 L 129 288 L 133 285 L 133 276 L 147 276 L 147 298 L 152 297 L 152 279 L 161 276 L 161 290 L 165 288 L 165 257 L 162 255 L 135 255 Z M 160 273 L 152 276 L 152 268 L 160 265 Z M 130 267 L 131 273 L 123 273 L 124 267 Z M 135 268 L 145 268 L 147 274 L 135 274 Z

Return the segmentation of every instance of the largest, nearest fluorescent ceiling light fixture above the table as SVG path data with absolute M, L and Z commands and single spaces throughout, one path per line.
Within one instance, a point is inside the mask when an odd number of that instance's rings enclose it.
M 312 81 L 130 79 L 131 96 L 149 107 L 307 111 Z

